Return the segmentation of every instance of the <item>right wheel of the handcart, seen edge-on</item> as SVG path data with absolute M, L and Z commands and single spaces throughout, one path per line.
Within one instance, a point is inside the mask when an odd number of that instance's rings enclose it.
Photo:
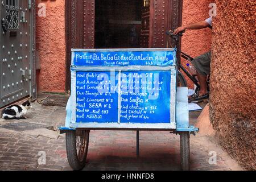
M 189 132 L 180 132 L 180 157 L 181 157 L 181 168 L 183 171 L 189 171 Z

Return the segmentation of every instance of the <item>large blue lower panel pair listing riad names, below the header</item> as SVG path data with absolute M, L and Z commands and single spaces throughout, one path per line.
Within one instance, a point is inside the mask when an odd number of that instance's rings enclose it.
M 76 122 L 170 123 L 170 71 L 120 74 L 76 72 Z

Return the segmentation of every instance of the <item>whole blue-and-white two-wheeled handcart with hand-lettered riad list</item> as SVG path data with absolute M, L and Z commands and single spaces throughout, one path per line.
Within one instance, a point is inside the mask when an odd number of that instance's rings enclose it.
M 85 167 L 90 130 L 170 131 L 180 135 L 181 168 L 189 170 L 188 88 L 177 87 L 176 49 L 72 49 L 67 158 Z

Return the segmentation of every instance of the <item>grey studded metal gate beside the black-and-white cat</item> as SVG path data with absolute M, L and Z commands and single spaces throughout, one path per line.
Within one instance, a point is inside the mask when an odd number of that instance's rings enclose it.
M 36 98 L 35 1 L 1 1 L 0 107 Z

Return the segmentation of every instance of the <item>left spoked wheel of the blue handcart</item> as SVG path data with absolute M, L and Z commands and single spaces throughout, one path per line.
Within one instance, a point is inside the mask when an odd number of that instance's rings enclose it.
M 89 144 L 88 130 L 68 131 L 66 133 L 66 149 L 68 163 L 78 171 L 85 166 Z

